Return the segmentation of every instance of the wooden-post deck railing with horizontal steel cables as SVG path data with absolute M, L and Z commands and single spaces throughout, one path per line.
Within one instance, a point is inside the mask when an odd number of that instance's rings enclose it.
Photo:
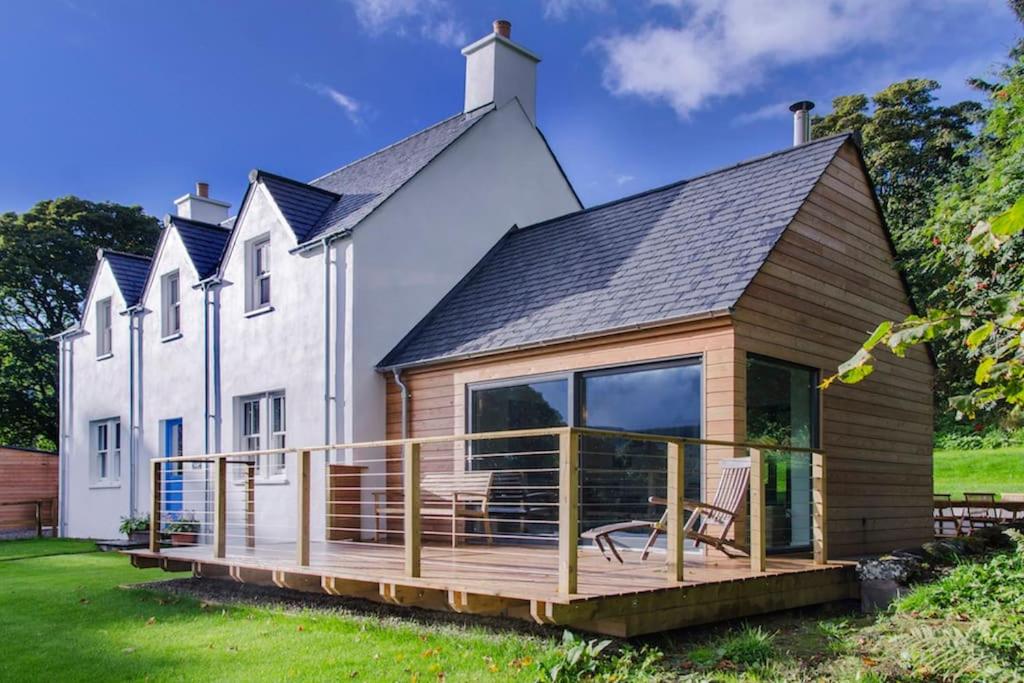
M 701 468 L 713 449 L 718 459 Z M 787 477 L 807 480 L 766 492 L 779 454 Z M 738 459 L 749 465 L 735 483 L 721 473 Z M 182 556 L 261 566 L 365 562 L 395 579 L 511 577 L 574 594 L 584 546 L 608 562 L 664 557 L 662 572 L 678 583 L 687 547 L 726 536 L 765 571 L 768 542 L 778 545 L 768 536 L 773 496 L 799 508 L 807 524 L 791 536 L 809 526 L 824 563 L 824 467 L 813 449 L 577 427 L 160 458 L 150 550 L 169 543 Z M 703 470 L 722 490 L 694 506 Z M 726 515 L 714 506 L 729 486 Z

